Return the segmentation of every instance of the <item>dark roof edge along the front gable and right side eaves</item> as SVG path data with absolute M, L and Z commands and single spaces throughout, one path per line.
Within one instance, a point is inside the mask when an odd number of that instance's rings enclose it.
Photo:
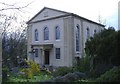
M 38 15 L 39 15 L 43 10 L 45 10 L 45 9 L 50 9 L 50 10 L 54 10 L 54 11 L 66 13 L 66 15 L 62 15 L 61 17 L 65 17 L 65 16 L 75 16 L 75 17 L 81 18 L 81 19 L 83 19 L 83 20 L 87 20 L 87 21 L 89 21 L 89 22 L 92 22 L 92 23 L 95 23 L 95 24 L 98 24 L 98 25 L 101 25 L 101 26 L 105 27 L 105 25 L 103 25 L 103 24 L 94 22 L 94 21 L 89 20 L 89 19 L 87 19 L 87 18 L 81 17 L 81 16 L 79 16 L 79 15 L 77 15 L 77 14 L 70 13 L 70 12 L 65 12 L 65 11 L 61 11 L 61 10 L 57 10 L 57 9 L 53 9 L 53 8 L 48 8 L 48 7 L 44 7 L 42 10 L 40 10 L 34 17 L 32 17 L 32 18 L 27 22 L 27 24 L 29 24 L 30 21 L 32 21 L 36 16 L 38 16 Z M 58 16 L 58 17 L 59 17 L 59 16 Z

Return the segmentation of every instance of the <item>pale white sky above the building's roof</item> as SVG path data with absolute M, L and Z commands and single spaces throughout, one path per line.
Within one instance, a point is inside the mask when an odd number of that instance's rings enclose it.
M 24 6 L 31 3 L 24 9 L 24 13 L 21 13 L 21 16 L 23 16 L 26 21 L 32 18 L 42 8 L 49 7 L 71 12 L 95 22 L 98 22 L 100 16 L 102 22 L 106 24 L 106 27 L 113 26 L 115 29 L 118 28 L 119 1 L 120 0 L 0 0 L 0 2 L 7 4 L 19 3 L 16 4 L 16 6 Z

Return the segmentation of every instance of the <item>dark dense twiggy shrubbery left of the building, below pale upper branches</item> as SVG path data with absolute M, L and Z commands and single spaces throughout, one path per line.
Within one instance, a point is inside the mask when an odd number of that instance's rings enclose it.
M 6 34 L 2 38 L 2 55 L 3 64 L 10 67 L 11 65 L 18 66 L 18 58 L 26 58 L 27 44 L 25 32 Z M 14 61 L 13 61 L 14 59 Z

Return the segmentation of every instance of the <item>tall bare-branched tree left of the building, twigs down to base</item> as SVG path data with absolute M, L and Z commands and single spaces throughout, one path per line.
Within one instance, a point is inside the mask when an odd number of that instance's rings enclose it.
M 31 2 L 32 3 L 32 2 Z M 26 56 L 26 22 L 24 20 L 18 20 L 18 13 L 24 13 L 31 3 L 25 6 L 17 6 L 15 4 L 6 4 L 0 2 L 5 8 L 0 9 L 0 29 L 2 38 L 2 64 L 12 63 L 13 66 L 17 66 L 17 56 L 21 58 Z M 6 11 L 14 11 L 12 14 L 6 14 Z M 16 13 L 17 11 L 17 13 Z M 22 17 L 19 15 L 19 17 Z M 10 61 L 10 63 L 8 63 Z

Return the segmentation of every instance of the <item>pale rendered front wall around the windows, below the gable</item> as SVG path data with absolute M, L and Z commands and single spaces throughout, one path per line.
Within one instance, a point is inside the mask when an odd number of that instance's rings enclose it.
M 49 40 L 44 40 L 44 28 L 49 28 Z M 55 27 L 60 27 L 60 40 L 55 39 Z M 38 29 L 39 32 L 39 41 L 34 41 L 34 30 Z M 32 44 L 33 45 L 42 45 L 42 44 L 53 44 L 52 50 L 50 50 L 50 65 L 53 66 L 63 66 L 64 65 L 64 48 L 63 48 L 63 18 L 48 20 L 43 22 L 34 23 L 32 26 Z M 61 57 L 60 59 L 56 59 L 55 57 L 55 48 L 61 49 Z M 43 59 L 42 57 L 41 59 Z M 44 59 L 43 59 L 44 60 Z

